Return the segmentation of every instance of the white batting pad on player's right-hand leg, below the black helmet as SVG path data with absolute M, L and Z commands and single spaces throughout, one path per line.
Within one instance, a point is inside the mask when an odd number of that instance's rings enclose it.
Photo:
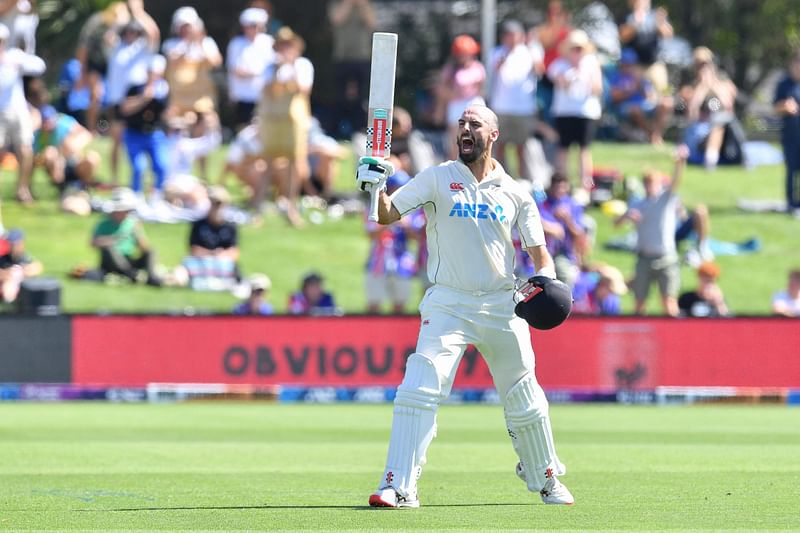
M 542 490 L 548 470 L 552 475 L 567 472 L 556 456 L 548 411 L 547 398 L 533 376 L 523 378 L 508 391 L 506 422 L 525 470 L 528 489 L 533 492 Z

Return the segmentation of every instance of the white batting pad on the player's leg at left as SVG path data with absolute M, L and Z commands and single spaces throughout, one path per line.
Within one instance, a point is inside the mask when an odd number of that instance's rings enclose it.
M 416 498 L 425 452 L 436 436 L 436 410 L 442 397 L 433 362 L 412 354 L 394 399 L 392 435 L 380 487 L 391 485 L 401 496 Z

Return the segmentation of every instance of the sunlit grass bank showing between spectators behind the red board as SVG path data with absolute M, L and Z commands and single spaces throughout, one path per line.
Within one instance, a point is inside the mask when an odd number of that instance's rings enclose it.
M 107 154 L 105 140 L 98 141 L 98 151 Z M 209 175 L 216 179 L 222 167 L 225 148 L 209 158 Z M 653 148 L 649 145 L 596 143 L 592 147 L 597 167 L 613 167 L 625 175 L 641 175 L 645 169 L 670 172 L 671 147 Z M 572 161 L 572 159 L 571 159 Z M 127 169 L 127 165 L 121 165 Z M 127 171 L 127 170 L 126 170 Z M 341 167 L 337 188 L 353 192 L 353 162 Z M 100 176 L 107 178 L 103 167 Z M 187 307 L 197 312 L 228 312 L 236 303 L 228 293 L 198 293 L 182 288 L 152 289 L 149 287 L 102 286 L 67 279 L 70 269 L 79 264 L 94 265 L 97 254 L 89 246 L 92 227 L 98 215 L 80 218 L 60 213 L 55 202 L 55 190 L 37 172 L 34 193 L 41 198 L 32 208 L 20 207 L 11 200 L 15 176 L 0 175 L 0 197 L 3 200 L 3 220 L 7 227 L 22 227 L 27 231 L 29 252 L 40 259 L 45 274 L 61 279 L 64 285 L 62 301 L 68 312 L 184 312 Z M 121 176 L 127 183 L 127 176 Z M 233 182 L 230 178 L 229 183 Z M 742 241 L 756 237 L 762 242 L 757 254 L 720 257 L 722 287 L 729 307 L 736 314 L 767 314 L 772 294 L 786 286 L 787 273 L 800 267 L 800 219 L 785 214 L 745 213 L 736 209 L 738 198 L 781 199 L 784 171 L 780 165 L 744 168 L 720 167 L 706 172 L 689 167 L 681 185 L 681 196 L 691 207 L 703 202 L 712 216 L 712 236 L 725 241 Z M 238 190 L 234 196 L 240 197 Z M 634 256 L 608 251 L 603 243 L 624 234 L 630 228 L 615 229 L 612 221 L 597 209 L 590 211 L 598 222 L 598 244 L 594 259 L 619 267 L 623 274 L 633 274 Z M 186 255 L 188 224 L 148 224 L 147 233 L 157 252 L 158 261 L 167 266 L 180 264 Z M 290 292 L 296 290 L 300 279 L 309 270 L 320 271 L 337 302 L 348 313 L 365 310 L 364 265 L 368 242 L 363 222 L 358 217 L 344 218 L 321 225 L 308 224 L 297 230 L 289 228 L 277 215 L 267 217 L 260 227 L 246 226 L 241 231 L 242 267 L 245 273 L 265 272 L 273 282 L 271 301 L 277 312 L 285 312 Z M 694 271 L 681 269 L 682 287 L 695 287 Z M 651 292 L 648 310 L 660 313 L 661 306 L 655 288 Z M 416 291 L 421 296 L 421 288 Z M 418 298 L 407 306 L 414 312 Z M 0 309 L 1 310 L 1 309 Z M 623 310 L 633 310 L 633 296 L 623 298 Z

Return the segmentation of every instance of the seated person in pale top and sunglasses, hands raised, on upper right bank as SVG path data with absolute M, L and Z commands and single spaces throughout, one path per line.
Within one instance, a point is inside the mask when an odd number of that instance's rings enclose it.
M 694 76 L 691 85 L 681 89 L 689 121 L 684 133 L 689 162 L 709 170 L 742 163 L 744 132 L 734 109 L 737 89 L 714 65 L 714 54 L 705 46 L 694 50 Z

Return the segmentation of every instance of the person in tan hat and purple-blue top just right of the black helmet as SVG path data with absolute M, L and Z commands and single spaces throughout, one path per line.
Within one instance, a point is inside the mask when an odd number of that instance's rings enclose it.
M 611 265 L 596 264 L 584 268 L 572 290 L 572 312 L 587 315 L 619 315 L 622 312 L 621 296 L 628 286 L 619 269 Z

